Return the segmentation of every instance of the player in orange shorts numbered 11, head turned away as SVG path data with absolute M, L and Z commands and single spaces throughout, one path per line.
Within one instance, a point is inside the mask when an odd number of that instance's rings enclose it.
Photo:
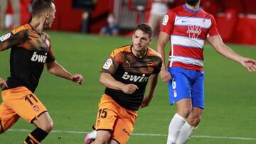
M 33 123 L 32 131 L 23 143 L 41 143 L 53 128 L 53 121 L 45 106 L 33 94 L 46 65 L 48 72 L 82 84 L 80 74 L 70 74 L 59 65 L 53 55 L 49 36 L 43 32 L 55 18 L 51 0 L 34 0 L 31 23 L 20 26 L 0 37 L 0 51 L 11 48 L 10 70 L 7 81 L 0 78 L 2 103 L 0 105 L 0 133 L 23 118 Z

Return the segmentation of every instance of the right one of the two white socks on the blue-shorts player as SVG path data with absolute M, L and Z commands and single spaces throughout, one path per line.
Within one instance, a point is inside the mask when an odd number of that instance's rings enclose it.
M 196 130 L 196 127 L 189 125 L 187 122 L 183 124 L 181 132 L 178 135 L 177 144 L 186 143 L 190 140 L 193 131 Z

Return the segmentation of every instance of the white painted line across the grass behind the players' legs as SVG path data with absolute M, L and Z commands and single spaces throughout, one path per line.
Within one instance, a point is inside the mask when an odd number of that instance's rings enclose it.
M 9 129 L 8 131 L 19 131 L 19 132 L 31 132 L 26 129 Z M 86 134 L 87 131 L 50 131 L 50 133 L 79 133 Z M 154 134 L 154 133 L 132 133 L 132 135 L 139 136 L 167 136 L 166 134 Z M 240 137 L 228 137 L 228 136 L 208 136 L 208 135 L 193 135 L 193 138 L 212 138 L 212 139 L 230 139 L 230 140 L 256 140 L 256 138 L 240 138 Z

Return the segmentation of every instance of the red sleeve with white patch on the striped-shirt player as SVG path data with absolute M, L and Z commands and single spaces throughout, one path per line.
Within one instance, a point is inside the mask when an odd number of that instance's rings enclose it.
M 174 20 L 175 20 L 174 12 L 171 10 L 168 11 L 163 18 L 163 22 L 161 23 L 160 30 L 162 32 L 165 32 L 171 35 L 171 33 L 174 31 Z

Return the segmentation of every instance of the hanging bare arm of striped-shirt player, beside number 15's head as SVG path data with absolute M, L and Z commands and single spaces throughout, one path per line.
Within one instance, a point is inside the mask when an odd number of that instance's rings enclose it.
M 171 74 L 166 70 L 165 63 L 165 47 L 169 42 L 170 35 L 164 32 L 159 33 L 159 39 L 157 40 L 156 50 L 162 57 L 163 63 L 161 66 L 160 76 L 163 82 L 169 82 L 171 80 Z

